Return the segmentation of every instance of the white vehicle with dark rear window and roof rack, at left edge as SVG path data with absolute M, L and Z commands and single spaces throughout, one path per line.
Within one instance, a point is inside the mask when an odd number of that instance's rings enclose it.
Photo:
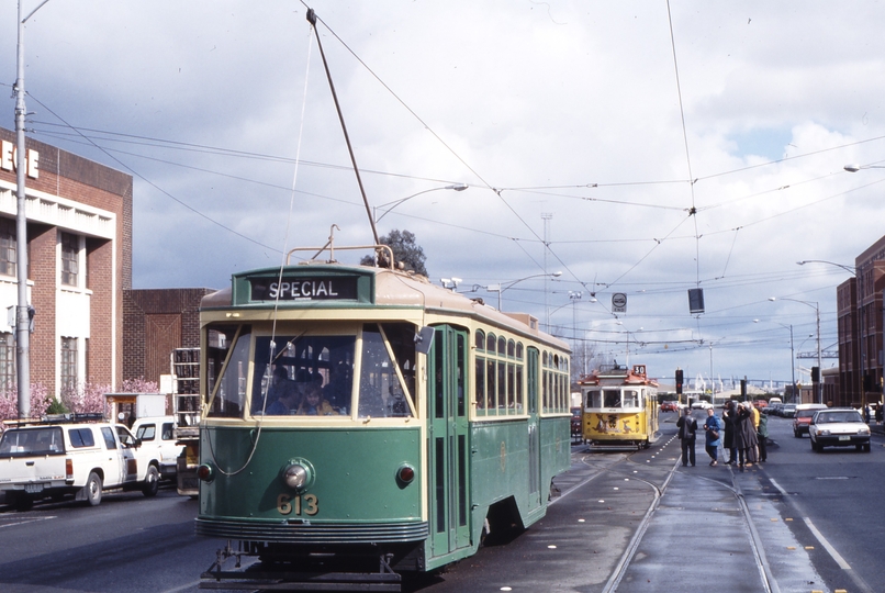
M 96 506 L 114 488 L 157 494 L 156 450 L 142 448 L 123 425 L 72 421 L 20 424 L 3 433 L 0 492 L 8 504 L 26 510 L 35 500 L 72 494 Z

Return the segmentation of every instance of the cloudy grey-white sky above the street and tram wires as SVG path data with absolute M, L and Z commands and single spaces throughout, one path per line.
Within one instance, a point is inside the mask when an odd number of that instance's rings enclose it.
M 309 5 L 368 202 L 395 205 L 378 233 L 414 233 L 432 281 L 663 380 L 807 383 L 791 329 L 816 355 L 818 313 L 837 350 L 851 272 L 796 262 L 852 268 L 885 235 L 885 169 L 843 169 L 885 164 L 871 0 L 51 0 L 27 133 L 134 177 L 134 288 L 224 288 L 332 225 L 373 242 Z

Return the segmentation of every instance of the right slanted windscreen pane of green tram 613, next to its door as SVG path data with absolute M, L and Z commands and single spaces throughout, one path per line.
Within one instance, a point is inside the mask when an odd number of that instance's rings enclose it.
M 383 327 L 387 334 L 388 326 L 384 325 Z M 414 335 L 414 327 L 412 333 Z M 396 348 L 393 349 L 395 354 Z M 359 417 L 405 417 L 412 415 L 405 401 L 406 393 L 403 391 L 400 378 L 396 376 L 394 365 L 395 362 L 390 358 L 378 325 L 366 324 L 362 328 L 362 362 L 359 376 L 359 406 L 357 410 Z M 414 361 L 401 370 L 403 374 L 405 374 L 405 371 L 413 371 Z M 411 385 L 410 389 L 412 389 Z M 412 398 L 412 394 L 410 393 L 408 396 Z

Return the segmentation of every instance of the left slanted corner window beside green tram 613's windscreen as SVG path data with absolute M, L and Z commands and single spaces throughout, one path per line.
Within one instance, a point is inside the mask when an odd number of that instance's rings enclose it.
M 243 417 L 246 402 L 246 380 L 249 372 L 249 348 L 251 347 L 251 329 L 242 326 L 214 326 L 210 331 L 217 337 L 219 347 L 210 349 L 211 368 L 224 369 L 215 381 L 209 384 L 209 416 L 219 418 Z M 236 342 L 234 338 L 236 337 Z

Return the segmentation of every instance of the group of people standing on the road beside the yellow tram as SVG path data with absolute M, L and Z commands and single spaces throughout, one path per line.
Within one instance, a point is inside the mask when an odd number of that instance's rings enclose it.
M 695 443 L 697 440 L 697 421 L 686 407 L 676 421 L 679 438 L 682 441 L 682 465 L 695 465 Z M 717 418 L 713 409 L 707 410 L 704 421 L 704 439 L 710 466 L 719 463 L 719 445 L 728 450 L 725 465 L 743 468 L 768 460 L 766 441 L 769 438 L 768 416 L 759 413 L 750 402 L 726 403 L 722 417 Z

